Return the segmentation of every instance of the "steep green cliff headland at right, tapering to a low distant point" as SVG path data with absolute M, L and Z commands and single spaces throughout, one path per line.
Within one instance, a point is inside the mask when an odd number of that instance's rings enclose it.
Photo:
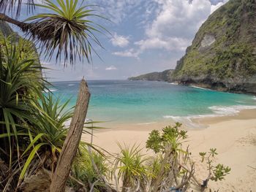
M 129 80 L 157 80 L 256 94 L 256 9 L 230 0 L 200 27 L 176 69 Z

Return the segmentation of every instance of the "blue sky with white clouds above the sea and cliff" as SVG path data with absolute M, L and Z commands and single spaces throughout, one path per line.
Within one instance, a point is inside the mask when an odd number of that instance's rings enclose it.
M 41 1 L 41 0 L 37 0 Z M 82 1 L 82 0 L 81 0 Z M 91 18 L 110 34 L 96 34 L 101 47 L 94 48 L 93 62 L 77 61 L 64 67 L 41 58 L 50 81 L 125 80 L 148 72 L 174 69 L 192 44 L 197 30 L 214 10 L 228 0 L 87 0 L 97 4 L 97 14 L 111 21 Z M 37 12 L 45 12 L 39 8 Z M 35 13 L 37 13 L 35 12 Z M 21 18 L 26 18 L 23 9 Z

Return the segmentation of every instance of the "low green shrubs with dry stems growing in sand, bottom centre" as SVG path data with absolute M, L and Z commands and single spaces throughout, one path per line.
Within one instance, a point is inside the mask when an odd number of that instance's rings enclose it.
M 116 158 L 114 171 L 118 170 L 117 180 L 122 183 L 122 192 L 188 191 L 192 188 L 205 191 L 209 180 L 217 182 L 230 173 L 228 166 L 214 166 L 217 150 L 210 149 L 208 153 L 200 153 L 202 163 L 206 162 L 208 177 L 199 182 L 189 147 L 184 150 L 182 146 L 188 137 L 187 131 L 179 130 L 180 127 L 181 123 L 176 123 L 162 131 L 151 131 L 146 142 L 146 148 L 154 151 L 150 158 L 135 145 L 130 149 L 119 145 L 121 153 Z

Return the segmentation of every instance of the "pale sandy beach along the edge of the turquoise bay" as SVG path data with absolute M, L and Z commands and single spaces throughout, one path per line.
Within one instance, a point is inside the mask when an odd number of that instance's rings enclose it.
M 233 116 L 198 118 L 193 122 L 207 128 L 182 127 L 188 131 L 189 138 L 184 147 L 189 145 L 192 158 L 199 161 L 199 152 L 217 148 L 217 162 L 231 167 L 231 173 L 225 180 L 218 183 L 211 181 L 209 188 L 216 191 L 256 191 L 256 110 L 242 110 Z M 113 128 L 94 131 L 94 145 L 110 153 L 118 153 L 117 142 L 145 147 L 151 130 L 173 123 L 170 120 L 148 124 L 105 123 L 102 126 Z M 88 141 L 89 136 L 83 135 L 83 139 Z M 202 164 L 197 164 L 196 170 L 200 180 L 207 177 L 208 171 L 203 169 Z

